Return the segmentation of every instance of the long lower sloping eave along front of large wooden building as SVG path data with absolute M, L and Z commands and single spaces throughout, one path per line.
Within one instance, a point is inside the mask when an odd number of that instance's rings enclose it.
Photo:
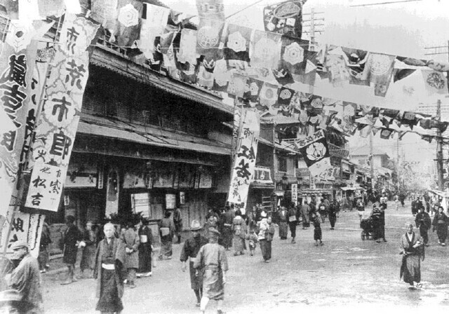
M 110 121 L 107 118 L 83 116 L 79 122 L 77 132 L 172 149 L 199 151 L 217 155 L 231 154 L 231 149 L 227 145 L 219 144 L 209 139 L 200 139 L 121 121 Z

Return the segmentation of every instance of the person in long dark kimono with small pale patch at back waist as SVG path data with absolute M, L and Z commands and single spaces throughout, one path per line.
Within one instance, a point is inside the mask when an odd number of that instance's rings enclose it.
M 136 276 L 149 277 L 152 275 L 152 252 L 153 252 L 153 233 L 149 228 L 149 220 L 142 218 L 142 225 L 139 228 L 139 269 Z

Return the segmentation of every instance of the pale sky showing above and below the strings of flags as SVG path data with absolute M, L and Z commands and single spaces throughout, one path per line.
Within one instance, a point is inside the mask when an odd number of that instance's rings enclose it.
M 195 0 L 162 0 L 176 11 L 196 15 Z M 264 6 L 281 0 L 224 0 L 225 15 L 229 16 L 245 10 L 228 19 L 236 25 L 263 29 L 262 12 Z M 421 0 L 397 4 L 378 4 L 400 0 L 308 0 L 304 4 L 304 20 L 313 8 L 324 18 L 324 32 L 317 36 L 321 43 L 360 48 L 377 53 L 401 55 L 422 59 L 447 61 L 448 55 L 425 55 L 435 50 L 426 47 L 449 45 L 449 0 Z M 403 0 L 402 0 L 403 1 Z M 358 6 L 371 4 L 369 6 Z M 307 27 L 303 27 L 307 30 Z M 307 35 L 305 35 L 307 39 Z M 443 51 L 443 50 L 439 50 Z M 447 50 L 446 50 L 447 51 Z M 442 100 L 442 106 L 449 108 L 449 99 Z M 449 116 L 445 120 L 449 121 Z M 368 144 L 368 139 L 351 137 L 351 147 Z M 375 137 L 374 145 L 396 158 L 396 139 L 384 140 Z M 435 145 L 429 145 L 417 135 L 403 137 L 401 149 L 409 161 L 431 162 Z

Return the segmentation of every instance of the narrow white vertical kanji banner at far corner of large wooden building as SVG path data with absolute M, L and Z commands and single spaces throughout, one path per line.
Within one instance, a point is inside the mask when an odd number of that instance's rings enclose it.
M 235 151 L 227 200 L 229 203 L 239 205 L 244 214 L 248 190 L 255 170 L 260 117 L 257 112 L 244 109 L 241 118 L 243 118 L 243 123 L 239 131 L 239 144 Z

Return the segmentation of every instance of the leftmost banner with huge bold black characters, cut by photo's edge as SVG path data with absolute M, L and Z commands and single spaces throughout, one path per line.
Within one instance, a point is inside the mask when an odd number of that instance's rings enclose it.
M 23 143 L 35 122 L 29 109 L 37 41 L 53 23 L 11 21 L 0 55 L 0 214 L 5 214 L 20 175 Z M 26 153 L 26 152 L 25 152 Z M 15 203 L 15 200 L 13 200 Z

